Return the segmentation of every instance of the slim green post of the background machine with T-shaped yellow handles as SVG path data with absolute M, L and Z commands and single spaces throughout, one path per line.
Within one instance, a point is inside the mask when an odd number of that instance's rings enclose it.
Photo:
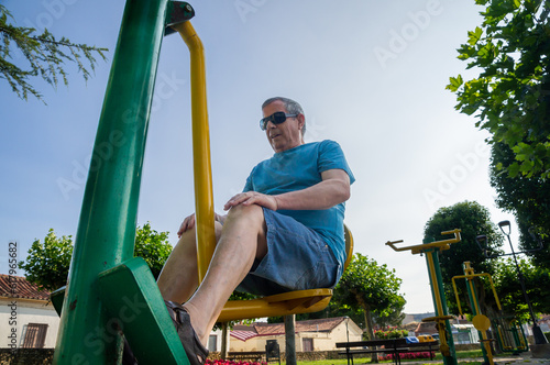
M 422 243 L 425 243 L 425 244 L 430 243 L 430 242 L 435 242 L 435 240 L 431 239 L 431 240 L 424 240 L 422 241 Z M 441 269 L 439 267 L 439 257 L 438 257 L 439 250 L 432 248 L 432 250 L 426 251 L 425 253 L 426 253 L 426 263 L 428 265 L 428 273 L 431 273 L 433 270 L 435 276 L 436 276 L 436 280 L 433 280 L 432 275 L 430 275 L 430 285 L 432 288 L 431 295 L 432 295 L 432 299 L 433 299 L 433 307 L 436 308 L 436 317 L 448 316 L 449 310 L 447 309 L 447 298 L 446 298 L 446 294 L 444 294 L 444 289 L 443 289 L 443 279 L 441 277 Z M 433 267 L 430 267 L 430 259 L 433 264 Z M 436 297 L 436 290 L 435 290 L 436 286 L 438 288 L 437 291 L 439 291 L 439 297 Z M 455 350 L 454 350 L 454 341 L 452 338 L 451 324 L 449 323 L 448 320 L 444 322 L 446 322 L 446 331 L 448 333 L 447 344 L 449 345 L 450 356 L 443 355 L 443 363 L 446 365 L 458 365 L 457 354 L 455 354 Z M 441 339 L 440 339 L 440 341 L 441 341 Z

